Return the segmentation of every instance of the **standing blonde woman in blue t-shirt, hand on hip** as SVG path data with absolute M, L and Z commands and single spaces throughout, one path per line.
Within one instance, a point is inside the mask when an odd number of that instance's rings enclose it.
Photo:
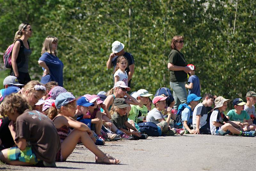
M 43 68 L 43 77 L 41 83 L 46 84 L 55 81 L 63 87 L 63 63 L 57 57 L 58 38 L 47 36 L 43 43 L 41 57 L 38 64 Z

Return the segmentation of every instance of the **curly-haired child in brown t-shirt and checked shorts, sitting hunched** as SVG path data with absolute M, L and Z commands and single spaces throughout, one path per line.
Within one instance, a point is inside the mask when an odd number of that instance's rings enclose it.
M 6 96 L 1 115 L 6 114 L 16 147 L 0 152 L 0 159 L 10 165 L 31 166 L 40 160 L 44 166 L 54 167 L 60 149 L 60 138 L 52 121 L 36 110 L 29 110 L 27 100 L 20 94 Z

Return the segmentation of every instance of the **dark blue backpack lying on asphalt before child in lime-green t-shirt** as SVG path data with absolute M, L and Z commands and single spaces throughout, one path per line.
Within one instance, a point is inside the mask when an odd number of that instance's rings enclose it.
M 156 123 L 153 122 L 143 122 L 138 123 L 138 126 L 140 127 L 139 131 L 142 134 L 147 134 L 151 137 L 159 137 L 162 134 L 162 130 L 160 127 L 156 125 Z

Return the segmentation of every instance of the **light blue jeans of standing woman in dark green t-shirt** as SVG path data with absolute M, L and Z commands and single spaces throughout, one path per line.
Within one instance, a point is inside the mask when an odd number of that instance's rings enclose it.
M 180 104 L 187 103 L 188 93 L 185 84 L 186 82 L 170 82 L 170 87 L 173 90 L 172 95 L 175 100 L 173 108 L 176 110 L 178 110 Z

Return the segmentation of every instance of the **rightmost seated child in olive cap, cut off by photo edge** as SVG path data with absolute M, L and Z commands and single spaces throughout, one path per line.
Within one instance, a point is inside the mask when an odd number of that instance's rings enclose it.
M 246 93 L 247 103 L 244 105 L 244 110 L 252 119 L 252 123 L 256 124 L 256 113 L 255 113 L 255 103 L 256 103 L 256 93 L 254 91 L 249 91 Z

